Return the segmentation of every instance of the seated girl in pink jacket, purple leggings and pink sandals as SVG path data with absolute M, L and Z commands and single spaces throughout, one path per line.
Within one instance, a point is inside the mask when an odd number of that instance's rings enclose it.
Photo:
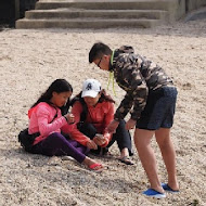
M 61 133 L 69 133 L 74 127 L 74 115 L 61 114 L 61 108 L 69 101 L 72 93 L 73 88 L 65 79 L 56 79 L 31 106 L 28 112 L 28 133 L 40 133 L 34 141 L 31 153 L 47 156 L 68 155 L 90 169 L 100 170 L 102 165 L 86 156 L 89 152 L 87 145 L 66 139 Z

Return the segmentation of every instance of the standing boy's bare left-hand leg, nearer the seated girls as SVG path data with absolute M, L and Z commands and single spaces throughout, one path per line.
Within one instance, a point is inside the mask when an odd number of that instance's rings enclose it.
M 160 185 L 160 181 L 157 176 L 156 158 L 153 149 L 151 147 L 151 139 L 155 131 L 136 129 L 134 143 L 139 153 L 142 166 L 147 175 L 151 183 L 151 189 L 154 189 L 160 193 L 164 190 Z

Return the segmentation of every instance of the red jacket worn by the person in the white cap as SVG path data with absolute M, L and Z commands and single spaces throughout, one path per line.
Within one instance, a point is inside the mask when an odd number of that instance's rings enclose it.
M 72 139 L 86 146 L 90 139 L 77 129 L 81 112 L 82 104 L 79 101 L 75 102 L 72 108 L 72 113 L 75 116 L 75 125 L 73 130 L 69 132 L 69 136 Z M 98 103 L 95 106 L 88 106 L 86 123 L 91 123 L 96 128 L 98 132 L 104 134 L 108 140 L 107 143 L 102 146 L 106 146 L 112 139 L 112 134 L 107 133 L 105 128 L 114 119 L 114 113 L 115 107 L 112 102 L 104 101 L 102 103 Z

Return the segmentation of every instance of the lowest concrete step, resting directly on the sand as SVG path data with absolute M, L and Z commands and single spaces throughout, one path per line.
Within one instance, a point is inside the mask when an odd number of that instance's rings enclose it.
M 151 28 L 159 25 L 158 20 L 137 20 L 126 18 L 70 18 L 70 20 L 20 20 L 16 22 L 16 28 Z

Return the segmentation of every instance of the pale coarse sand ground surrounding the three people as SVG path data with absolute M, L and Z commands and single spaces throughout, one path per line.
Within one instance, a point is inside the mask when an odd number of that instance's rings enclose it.
M 56 78 L 67 79 L 74 95 L 87 78 L 106 89 L 108 73 L 92 68 L 88 52 L 95 41 L 113 49 L 133 46 L 162 65 L 178 88 L 172 140 L 181 192 L 165 199 L 141 194 L 149 186 L 137 151 L 134 166 L 110 157 L 95 173 L 65 157 L 25 153 L 17 142 L 28 125 L 27 111 Z M 42 29 L 0 31 L 0 205 L 1 206 L 205 206 L 206 205 L 206 20 L 153 29 Z M 115 85 L 116 106 L 124 91 Z M 113 94 L 112 85 L 108 93 Z M 114 94 L 113 94 L 114 95 Z M 133 131 L 131 131 L 133 133 Z M 160 152 L 153 141 L 159 177 L 167 181 Z

